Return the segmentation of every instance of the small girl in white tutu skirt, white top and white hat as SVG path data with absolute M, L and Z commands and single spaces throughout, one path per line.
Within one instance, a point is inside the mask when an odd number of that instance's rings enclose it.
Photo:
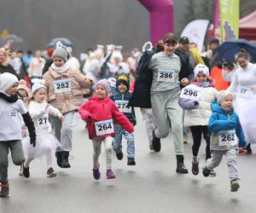
M 34 158 L 40 158 L 45 155 L 47 164 L 47 177 L 55 177 L 55 171 L 52 166 L 52 156 L 60 142 L 54 135 L 50 134 L 51 125 L 49 124 L 49 115 L 58 117 L 61 121 L 63 116 L 61 112 L 45 102 L 46 89 L 42 83 L 32 85 L 32 101 L 29 104 L 28 111 L 35 123 L 37 131 L 37 147 L 28 146 L 27 140 L 23 142 L 23 149 L 26 153 L 26 161 L 23 168 L 23 175 L 30 176 L 29 164 Z

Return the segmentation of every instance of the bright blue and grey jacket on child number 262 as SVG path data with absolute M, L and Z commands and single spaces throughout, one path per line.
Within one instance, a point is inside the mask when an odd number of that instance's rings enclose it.
M 226 112 L 221 108 L 217 102 L 212 103 L 212 115 L 209 118 L 208 130 L 212 134 L 211 150 L 230 150 L 236 148 L 235 146 L 219 146 L 218 145 L 218 132 L 220 130 L 236 130 L 236 135 L 239 139 L 239 147 L 246 147 L 245 137 L 241 129 L 241 124 L 236 112 Z

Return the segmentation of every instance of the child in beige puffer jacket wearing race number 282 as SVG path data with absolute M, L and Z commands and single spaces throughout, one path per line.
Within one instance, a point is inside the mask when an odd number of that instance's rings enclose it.
M 63 122 L 59 118 L 50 118 L 55 137 L 61 142 L 55 156 L 61 168 L 70 168 L 68 157 L 72 150 L 73 127 L 78 119 L 76 112 L 83 102 L 82 89 L 90 89 L 94 83 L 79 70 L 71 68 L 67 63 L 67 47 L 61 42 L 56 44 L 52 59 L 54 62 L 43 76 L 47 101 L 64 116 Z

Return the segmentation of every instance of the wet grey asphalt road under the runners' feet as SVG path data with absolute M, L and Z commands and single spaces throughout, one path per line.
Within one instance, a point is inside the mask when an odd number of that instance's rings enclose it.
M 191 135 L 184 145 L 188 175 L 176 174 L 176 157 L 172 137 L 162 140 L 160 153 L 150 152 L 141 113 L 137 111 L 136 166 L 126 165 L 126 155 L 118 161 L 113 154 L 116 179 L 106 179 L 104 152 L 100 157 L 102 178 L 92 176 L 92 144 L 84 122 L 73 131 L 72 168 L 55 164 L 57 176 L 46 177 L 45 160 L 34 160 L 31 177 L 18 176 L 19 167 L 9 158 L 10 194 L 0 199 L 1 213 L 43 212 L 256 212 L 256 148 L 252 155 L 238 157 L 241 188 L 230 192 L 225 159 L 216 169 L 216 177 L 191 173 Z M 124 147 L 125 146 L 125 143 Z M 102 147 L 103 148 L 103 147 Z M 205 145 L 201 147 L 201 167 Z M 125 153 L 125 152 L 124 152 Z

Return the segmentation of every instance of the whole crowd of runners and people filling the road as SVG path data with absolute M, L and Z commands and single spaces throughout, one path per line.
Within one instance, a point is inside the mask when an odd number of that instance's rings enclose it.
M 148 44 L 148 43 L 147 43 Z M 0 197 L 9 195 L 8 154 L 20 165 L 20 176 L 30 177 L 30 163 L 45 156 L 46 176 L 55 177 L 53 158 L 70 168 L 76 113 L 86 122 L 93 147 L 92 172 L 101 178 L 99 156 L 106 153 L 107 179 L 116 178 L 112 153 L 136 165 L 134 107 L 140 107 L 149 149 L 158 153 L 161 138 L 172 130 L 176 172 L 187 174 L 183 144 L 192 134 L 192 174 L 199 174 L 201 135 L 206 141 L 203 176 L 216 176 L 214 168 L 227 158 L 230 190 L 239 185 L 237 153 L 252 153 L 256 129 L 256 66 L 247 52 L 236 64 L 221 59 L 213 38 L 201 53 L 188 37 L 167 33 L 155 47 L 132 49 L 124 59 L 122 47 L 110 44 L 88 49 L 79 61 L 72 47 L 56 43 L 47 55 L 37 50 L 0 49 Z M 229 80 L 227 79 L 229 78 Z M 86 97 L 86 99 L 84 99 Z M 245 107 L 246 106 L 246 107 Z

